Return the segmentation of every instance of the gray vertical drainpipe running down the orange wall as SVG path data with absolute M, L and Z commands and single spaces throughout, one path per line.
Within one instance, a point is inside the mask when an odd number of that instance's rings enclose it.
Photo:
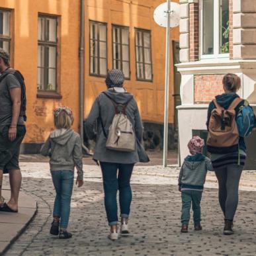
M 80 35 L 79 35 L 79 103 L 80 103 L 80 136 L 83 150 L 89 154 L 89 149 L 83 144 L 83 111 L 85 95 L 85 1 L 80 1 Z

